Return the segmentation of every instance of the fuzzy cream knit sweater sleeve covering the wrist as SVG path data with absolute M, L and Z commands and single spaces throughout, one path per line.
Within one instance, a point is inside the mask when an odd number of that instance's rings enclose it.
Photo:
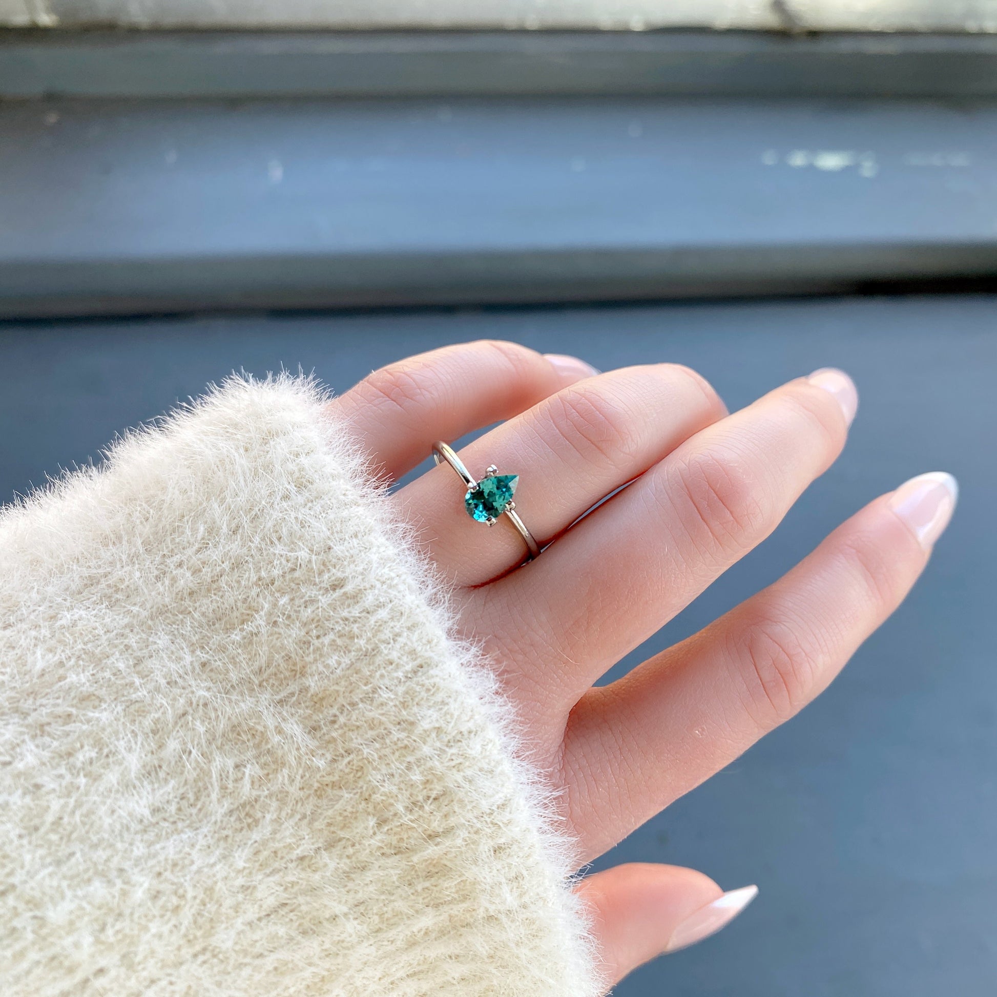
M 311 385 L 0 517 L 0 994 L 592 997 L 571 842 Z

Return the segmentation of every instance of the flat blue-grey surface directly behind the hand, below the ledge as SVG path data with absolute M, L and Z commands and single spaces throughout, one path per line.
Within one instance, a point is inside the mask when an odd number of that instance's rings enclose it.
M 602 368 L 673 360 L 733 408 L 838 365 L 862 402 L 848 447 L 763 547 L 649 641 L 678 639 L 777 577 L 849 512 L 922 471 L 963 488 L 896 616 L 802 717 L 600 862 L 704 869 L 761 896 L 622 997 L 937 997 L 997 989 L 997 298 L 0 326 L 0 498 L 99 457 L 116 432 L 233 368 L 372 368 L 480 336 Z M 653 418 L 653 413 L 649 413 Z

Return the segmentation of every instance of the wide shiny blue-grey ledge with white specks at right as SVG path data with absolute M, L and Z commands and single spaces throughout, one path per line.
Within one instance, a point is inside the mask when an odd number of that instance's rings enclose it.
M 992 104 L 48 100 L 0 135 L 0 316 L 997 272 Z

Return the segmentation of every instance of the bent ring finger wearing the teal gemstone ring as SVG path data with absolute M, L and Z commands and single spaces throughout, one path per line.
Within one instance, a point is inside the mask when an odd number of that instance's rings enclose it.
M 519 476 L 516 510 L 542 546 L 611 492 L 725 414 L 716 392 L 675 364 L 612 371 L 572 385 L 461 451 L 473 476 L 491 465 Z M 499 518 L 484 532 L 464 485 L 442 465 L 397 499 L 455 583 L 480 585 L 519 564 L 522 538 Z

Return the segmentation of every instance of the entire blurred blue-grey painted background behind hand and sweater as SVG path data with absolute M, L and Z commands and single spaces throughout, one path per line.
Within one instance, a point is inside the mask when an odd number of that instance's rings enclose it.
M 861 405 L 777 533 L 960 506 L 804 715 L 600 860 L 758 882 L 620 997 L 997 990 L 997 2 L 0 0 L 0 501 L 232 370 L 501 337 Z

